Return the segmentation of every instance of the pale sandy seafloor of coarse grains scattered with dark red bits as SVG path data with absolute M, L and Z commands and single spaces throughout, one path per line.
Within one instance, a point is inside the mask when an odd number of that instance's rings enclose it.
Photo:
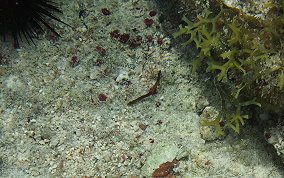
M 60 18 L 74 27 L 55 23 L 62 38 L 43 35 L 37 47 L 23 42 L 17 50 L 1 42 L 0 177 L 151 177 L 174 158 L 176 177 L 284 177 L 257 127 L 201 138 L 200 109 L 217 108 L 220 98 L 212 77 L 191 74 L 191 47 L 170 36 L 178 23 L 166 10 L 175 8 L 146 0 L 60 2 Z M 146 28 L 145 18 L 154 24 Z M 142 36 L 141 44 L 111 39 L 116 29 Z M 72 66 L 73 56 L 79 63 Z M 159 70 L 158 93 L 128 106 Z

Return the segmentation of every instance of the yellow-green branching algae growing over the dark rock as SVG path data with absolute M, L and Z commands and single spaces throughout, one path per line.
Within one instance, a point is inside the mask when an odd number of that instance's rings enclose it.
M 227 12 L 234 15 L 229 16 Z M 182 45 L 194 43 L 199 49 L 192 62 L 192 72 L 205 62 L 206 72 L 217 73 L 218 81 L 230 85 L 231 93 L 228 95 L 236 108 L 235 112 L 223 111 L 214 121 L 202 123 L 203 126 L 215 126 L 217 133 L 223 135 L 220 122 L 225 120 L 225 126 L 240 133 L 240 126 L 249 118 L 242 114 L 242 107 L 262 105 L 281 112 L 284 108 L 284 15 L 267 21 L 251 17 L 247 20 L 220 5 L 217 15 L 205 9 L 202 15 L 197 15 L 196 22 L 186 17 L 182 20 L 187 25 L 180 25 L 173 36 L 188 35 L 189 39 Z M 246 20 L 253 21 L 254 27 Z M 277 55 L 279 60 L 273 61 L 272 56 Z M 258 102 L 250 98 L 257 98 Z

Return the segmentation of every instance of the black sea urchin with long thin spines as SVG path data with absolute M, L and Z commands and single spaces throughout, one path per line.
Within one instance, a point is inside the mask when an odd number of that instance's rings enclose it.
M 34 43 L 33 38 L 38 32 L 44 32 L 45 28 L 60 36 L 47 20 L 68 24 L 53 12 L 62 13 L 53 0 L 0 0 L 0 34 L 4 41 L 11 36 L 15 46 L 19 46 L 22 36 L 28 43 Z

